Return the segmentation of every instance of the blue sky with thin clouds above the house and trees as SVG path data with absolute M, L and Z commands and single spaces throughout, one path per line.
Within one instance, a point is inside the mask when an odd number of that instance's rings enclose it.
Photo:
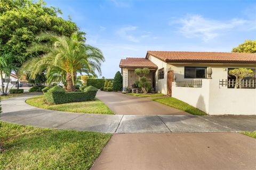
M 113 78 L 125 57 L 147 50 L 230 52 L 256 39 L 256 1 L 46 1 L 87 33 Z

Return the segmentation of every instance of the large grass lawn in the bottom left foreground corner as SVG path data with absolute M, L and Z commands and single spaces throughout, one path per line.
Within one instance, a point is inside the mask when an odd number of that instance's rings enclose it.
M 90 169 L 111 134 L 0 122 L 1 169 Z

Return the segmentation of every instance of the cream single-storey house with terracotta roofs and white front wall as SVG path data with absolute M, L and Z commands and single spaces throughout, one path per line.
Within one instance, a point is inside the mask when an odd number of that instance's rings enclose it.
M 148 67 L 156 92 L 178 98 L 208 114 L 256 114 L 256 54 L 148 51 L 145 58 L 126 58 L 120 65 L 123 87 L 138 78 L 134 69 Z M 252 69 L 253 76 L 234 89 L 235 68 Z

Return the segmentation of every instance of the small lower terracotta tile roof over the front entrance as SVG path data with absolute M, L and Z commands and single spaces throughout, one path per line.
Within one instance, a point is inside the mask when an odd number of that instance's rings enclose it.
M 157 69 L 156 64 L 151 62 L 146 58 L 132 58 L 127 57 L 126 59 L 122 59 L 119 67 L 121 68 L 144 68 L 147 67 L 149 69 Z

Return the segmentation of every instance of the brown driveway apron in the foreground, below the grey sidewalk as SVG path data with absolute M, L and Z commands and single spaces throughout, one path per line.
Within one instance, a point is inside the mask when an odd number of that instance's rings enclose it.
M 256 169 L 256 140 L 229 133 L 114 134 L 91 170 Z

